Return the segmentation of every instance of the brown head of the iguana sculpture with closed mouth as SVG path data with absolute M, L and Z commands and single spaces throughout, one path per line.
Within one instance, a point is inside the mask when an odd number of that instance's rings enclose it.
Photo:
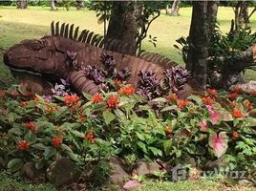
M 54 72 L 55 61 L 63 59 L 63 53 L 56 53 L 52 37 L 24 40 L 4 54 L 9 67 L 38 73 Z

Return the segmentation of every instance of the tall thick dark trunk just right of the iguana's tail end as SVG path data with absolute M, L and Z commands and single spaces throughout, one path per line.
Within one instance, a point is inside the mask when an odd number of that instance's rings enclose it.
M 204 90 L 207 77 L 208 35 L 207 35 L 207 2 L 193 2 L 192 19 L 189 38 L 191 44 L 188 51 L 186 68 L 191 71 L 200 90 Z

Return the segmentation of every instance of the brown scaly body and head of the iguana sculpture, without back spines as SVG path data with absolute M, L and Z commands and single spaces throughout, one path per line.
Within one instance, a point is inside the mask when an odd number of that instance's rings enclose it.
M 114 42 L 116 43 L 116 41 Z M 96 94 L 99 87 L 94 81 L 87 78 L 82 69 L 88 65 L 96 66 L 96 68 L 103 67 L 100 58 L 102 53 L 114 57 L 117 71 L 124 68 L 131 71 L 126 81 L 134 87 L 138 87 L 139 71 L 152 71 L 156 74 L 158 81 L 163 81 L 166 78 L 165 69 L 172 67 L 170 63 L 175 64 L 159 54 L 144 53 L 143 59 L 141 59 L 136 56 L 107 51 L 91 44 L 76 41 L 72 35 L 70 37 L 53 35 L 39 40 L 25 40 L 14 45 L 4 54 L 4 62 L 11 69 L 40 74 L 45 80 L 52 82 L 59 78 L 70 77 L 72 86 L 78 93 L 85 92 L 91 95 Z M 117 49 L 117 46 L 110 44 L 108 47 L 113 50 Z M 169 62 L 169 65 L 154 64 L 156 62 Z M 180 97 L 186 97 L 190 90 L 190 86 L 185 83 L 184 86 L 178 87 L 175 92 Z

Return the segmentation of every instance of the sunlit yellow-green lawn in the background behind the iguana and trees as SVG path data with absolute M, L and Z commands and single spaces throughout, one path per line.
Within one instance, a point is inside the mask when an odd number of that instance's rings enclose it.
M 153 22 L 149 34 L 157 36 L 157 48 L 147 40 L 143 43 L 143 49 L 155 53 L 161 53 L 183 65 L 181 55 L 173 47 L 176 39 L 181 36 L 187 36 L 189 32 L 191 8 L 181 8 L 181 16 L 160 15 Z M 50 34 L 50 23 L 54 21 L 75 23 L 80 29 L 89 29 L 97 33 L 103 33 L 103 25 L 97 24 L 95 11 L 71 11 L 59 9 L 59 11 L 50 11 L 47 7 L 30 7 L 28 10 L 16 10 L 15 7 L 0 7 L 0 48 L 8 49 L 12 45 L 23 39 L 39 38 Z M 223 32 L 228 32 L 230 28 L 230 19 L 234 13 L 230 8 L 220 8 L 218 20 Z M 250 20 L 250 26 L 253 32 L 256 31 L 256 16 Z M 0 88 L 13 83 L 13 78 L 9 70 L 3 65 L 3 59 L 0 58 Z M 247 79 L 256 79 L 256 72 L 246 72 Z

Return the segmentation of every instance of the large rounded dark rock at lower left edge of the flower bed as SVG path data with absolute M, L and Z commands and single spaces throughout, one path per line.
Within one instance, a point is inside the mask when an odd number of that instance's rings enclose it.
M 47 175 L 55 186 L 60 186 L 77 180 L 79 172 L 75 169 L 75 162 L 68 158 L 61 158 L 47 169 Z

